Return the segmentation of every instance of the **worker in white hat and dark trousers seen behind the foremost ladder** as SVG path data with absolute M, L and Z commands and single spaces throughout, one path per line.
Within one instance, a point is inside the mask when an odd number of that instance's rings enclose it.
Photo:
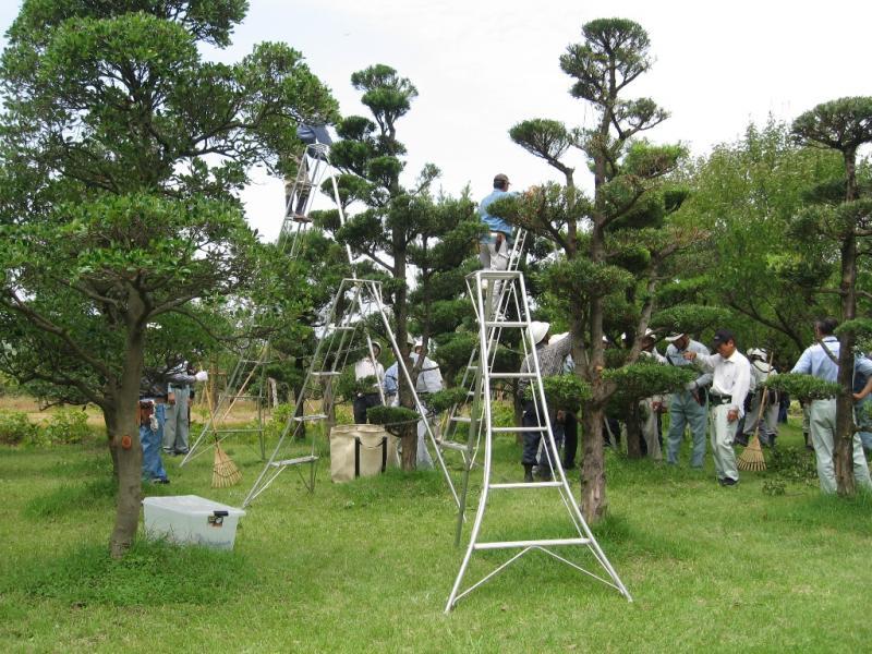
M 553 377 L 559 375 L 564 370 L 564 361 L 572 351 L 572 339 L 567 335 L 559 340 L 555 337 L 554 342 L 549 342 L 548 331 L 550 325 L 548 323 L 533 322 L 530 324 L 530 337 L 536 347 L 536 355 L 538 359 L 538 370 L 542 377 Z M 533 354 L 528 354 L 521 364 L 521 373 L 529 373 L 534 368 Z M 521 397 L 524 396 L 526 387 L 530 385 L 529 379 L 521 379 L 518 382 L 518 392 Z M 541 427 L 550 420 L 554 422 L 554 415 L 540 415 L 536 411 L 536 403 L 530 399 L 524 400 L 524 413 L 521 419 L 521 425 L 524 427 Z M 542 438 L 541 432 L 524 432 L 524 449 L 521 458 L 521 464 L 524 467 L 524 482 L 533 482 L 533 467 L 536 464 L 536 455 L 538 452 L 538 444 Z M 540 474 L 543 479 L 549 480 L 552 477 L 552 452 L 545 448 L 545 457 L 540 462 Z

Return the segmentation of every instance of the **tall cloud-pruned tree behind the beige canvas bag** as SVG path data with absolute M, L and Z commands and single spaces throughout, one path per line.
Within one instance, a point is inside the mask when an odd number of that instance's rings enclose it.
M 410 320 L 417 322 L 426 340 L 433 336 L 434 283 L 440 274 L 463 262 L 480 228 L 468 198 L 434 199 L 431 186 L 439 174 L 434 165 L 424 166 L 412 185 L 400 180 L 407 149 L 397 138 L 397 121 L 417 96 L 414 85 L 384 64 L 354 73 L 351 83 L 362 92 L 361 101 L 372 119 L 352 116 L 339 123 L 341 141 L 332 146 L 331 161 L 342 172 L 343 203 L 363 208 L 342 228 L 329 216 L 323 225 L 332 222 L 337 239 L 349 244 L 355 256 L 365 257 L 371 271 L 385 279 L 400 354 L 415 379 L 420 365 L 413 366 L 409 356 Z M 413 271 L 420 298 L 414 311 L 409 284 Z M 358 275 L 362 274 L 359 269 Z M 400 379 L 399 386 L 400 405 L 413 409 L 405 380 Z M 409 425 L 403 432 L 404 470 L 415 467 L 415 437 L 414 425 Z

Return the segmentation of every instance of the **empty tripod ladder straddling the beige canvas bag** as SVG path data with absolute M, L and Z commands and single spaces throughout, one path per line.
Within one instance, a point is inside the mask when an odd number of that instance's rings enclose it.
M 344 304 L 347 306 L 342 306 Z M 448 488 L 451 491 L 455 504 L 458 507 L 460 506 L 460 498 L 451 482 L 451 476 L 448 474 L 445 460 L 439 448 L 436 447 L 436 437 L 429 420 L 426 417 L 426 409 L 421 402 L 417 392 L 415 392 L 409 370 L 400 356 L 400 349 L 390 327 L 390 320 L 383 300 L 382 283 L 368 279 L 343 279 L 330 306 L 324 334 L 318 339 L 302 392 L 296 399 L 294 412 L 288 417 L 276 449 L 249 492 L 245 501 L 242 504 L 243 508 L 254 501 L 284 470 L 291 467 L 308 464 L 310 475 L 306 486 L 310 491 L 314 488 L 315 470 L 318 461 L 316 437 L 313 436 L 311 438 L 311 450 L 307 453 L 298 451 L 295 452 L 296 456 L 282 457 L 289 449 L 293 449 L 294 439 L 304 424 L 314 426 L 316 423 L 325 424 L 329 420 L 334 407 L 332 380 L 341 374 L 341 371 L 347 365 L 354 363 L 361 353 L 372 360 L 375 359 L 373 341 L 366 329 L 367 317 L 375 314 L 378 315 L 382 327 L 387 334 L 390 348 L 397 356 L 398 372 L 412 389 L 415 408 L 426 426 L 427 437 L 434 446 L 436 459 L 445 475 Z M 352 359 L 350 359 L 351 355 L 353 355 Z M 378 392 L 384 402 L 383 382 L 383 379 L 378 380 Z

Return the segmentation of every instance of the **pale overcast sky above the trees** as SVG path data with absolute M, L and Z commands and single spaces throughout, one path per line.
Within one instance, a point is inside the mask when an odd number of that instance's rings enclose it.
M 20 3 L 0 4 L 5 31 Z M 410 177 L 436 164 L 447 193 L 469 183 L 477 199 L 496 172 L 507 173 L 514 190 L 558 179 L 511 143 L 508 130 L 529 118 L 568 126 L 591 120 L 585 104 L 567 93 L 570 78 L 558 59 L 581 40 L 583 23 L 610 16 L 639 22 L 651 37 L 655 64 L 628 93 L 654 98 L 671 118 L 649 136 L 682 141 L 694 155 L 736 140 L 770 113 L 791 120 L 822 101 L 872 95 L 868 0 L 251 0 L 233 45 L 216 57 L 235 61 L 257 41 L 286 41 L 330 86 L 346 116 L 365 114 L 352 72 L 396 68 L 419 90 L 398 123 Z M 581 168 L 578 157 L 572 162 Z M 280 181 L 258 175 L 244 199 L 251 222 L 274 238 Z

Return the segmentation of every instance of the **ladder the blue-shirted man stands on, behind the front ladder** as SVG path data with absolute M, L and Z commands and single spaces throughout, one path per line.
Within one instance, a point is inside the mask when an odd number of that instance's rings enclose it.
M 521 263 L 521 256 L 524 251 L 524 243 L 526 241 L 526 230 L 519 229 L 516 235 L 512 249 L 509 252 L 509 262 L 506 270 L 514 271 Z M 499 319 L 507 317 L 510 306 L 517 305 L 517 298 L 512 293 L 517 291 L 517 286 L 511 283 L 493 282 L 487 289 L 489 302 L 495 302 L 496 316 Z M 498 322 L 497 320 L 497 322 Z M 488 352 L 491 356 L 488 364 L 493 366 L 494 359 L 496 358 L 496 346 L 499 342 L 502 334 L 501 327 L 494 326 L 487 330 Z M 463 467 L 465 469 L 472 468 L 475 462 L 475 456 L 479 451 L 479 444 L 481 443 L 482 432 L 481 422 L 476 423 L 474 438 L 462 438 L 461 432 L 465 427 L 472 429 L 473 423 L 470 417 L 472 412 L 472 402 L 475 398 L 475 382 L 477 371 L 476 362 L 479 361 L 479 346 L 473 348 L 470 353 L 470 360 L 463 371 L 463 378 L 460 382 L 460 387 L 467 390 L 467 395 L 462 402 L 458 402 L 446 413 L 443 420 L 441 438 L 439 439 L 439 447 L 446 450 L 453 450 L 461 453 L 463 457 Z

